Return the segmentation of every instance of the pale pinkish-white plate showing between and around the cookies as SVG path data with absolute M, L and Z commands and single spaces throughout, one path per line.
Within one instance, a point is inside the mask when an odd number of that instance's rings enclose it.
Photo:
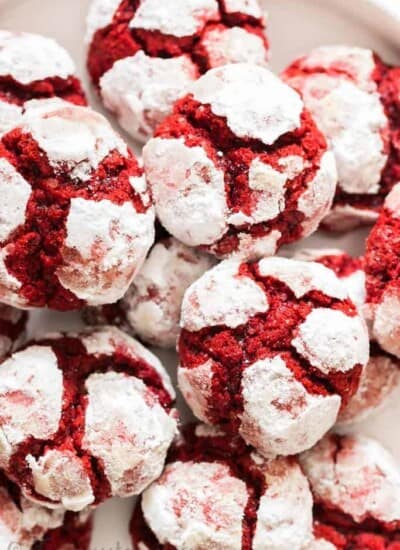
M 86 88 L 82 36 L 90 0 L 0 0 L 0 27 L 38 32 L 56 38 L 73 55 Z M 400 0 L 262 0 L 269 11 L 272 68 L 282 69 L 301 52 L 322 44 L 347 43 L 375 49 L 385 59 L 400 63 Z M 91 92 L 90 99 L 101 109 Z M 134 145 L 134 144 L 133 144 Z M 137 147 L 134 147 L 137 150 Z M 363 251 L 365 231 L 343 237 L 316 234 L 308 239 L 313 247 L 343 247 L 353 254 Z M 302 245 L 303 246 L 303 245 Z M 46 330 L 79 328 L 75 314 L 35 313 L 34 334 Z M 176 366 L 173 353 L 162 353 L 171 374 Z M 184 407 L 181 407 L 182 410 Z M 187 414 L 187 413 L 186 413 Z M 400 464 L 400 392 L 384 412 L 357 427 L 376 437 Z M 92 550 L 129 550 L 128 522 L 133 499 L 113 500 L 96 513 Z

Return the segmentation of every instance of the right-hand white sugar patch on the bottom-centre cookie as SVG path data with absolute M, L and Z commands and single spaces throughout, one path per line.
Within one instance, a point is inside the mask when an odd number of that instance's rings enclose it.
M 313 500 L 299 465 L 287 459 L 266 461 L 266 490 L 257 510 L 253 550 L 302 550 L 312 539 Z

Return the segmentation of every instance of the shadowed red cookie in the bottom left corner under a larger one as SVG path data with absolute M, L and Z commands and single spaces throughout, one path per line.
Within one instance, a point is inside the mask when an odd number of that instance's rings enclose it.
M 91 527 L 89 511 L 80 514 L 65 513 L 63 510 L 49 510 L 30 502 L 21 496 L 16 485 L 0 472 L 2 549 L 87 550 Z M 73 546 L 74 540 L 79 540 L 79 545 Z

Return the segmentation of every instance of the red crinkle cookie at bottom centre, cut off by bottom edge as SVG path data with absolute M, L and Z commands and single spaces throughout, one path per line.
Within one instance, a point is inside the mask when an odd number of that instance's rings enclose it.
M 240 438 L 190 426 L 131 534 L 135 550 L 300 550 L 312 539 L 312 498 L 295 458 L 265 460 Z

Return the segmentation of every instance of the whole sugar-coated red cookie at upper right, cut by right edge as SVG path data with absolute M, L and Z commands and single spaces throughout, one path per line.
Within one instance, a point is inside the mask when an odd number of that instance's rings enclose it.
M 400 179 L 400 71 L 371 50 L 326 46 L 283 73 L 298 90 L 335 154 L 339 184 L 328 229 L 376 220 Z

